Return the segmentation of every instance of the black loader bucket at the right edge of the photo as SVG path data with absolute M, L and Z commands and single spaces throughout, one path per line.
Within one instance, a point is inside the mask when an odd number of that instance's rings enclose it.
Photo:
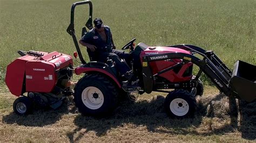
M 256 99 L 256 66 L 243 61 L 234 64 L 230 81 L 231 91 L 247 102 Z

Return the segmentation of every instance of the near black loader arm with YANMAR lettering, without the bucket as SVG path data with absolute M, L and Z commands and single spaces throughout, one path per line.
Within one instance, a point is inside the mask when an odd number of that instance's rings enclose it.
M 156 59 L 156 57 L 160 57 L 160 58 Z M 160 61 L 160 60 L 169 60 L 169 59 L 183 59 L 183 62 L 178 63 L 179 65 L 185 65 L 185 63 L 187 62 L 192 62 L 196 64 L 200 68 L 200 70 L 202 70 L 208 77 L 211 78 L 212 82 L 216 85 L 216 87 L 221 92 L 224 92 L 226 95 L 230 94 L 230 89 L 228 88 L 228 81 L 226 81 L 223 75 L 219 73 L 218 69 L 213 65 L 211 61 L 209 61 L 208 59 L 200 60 L 196 56 L 193 56 L 191 54 L 185 54 L 185 53 L 164 53 L 164 54 L 154 54 L 154 55 L 144 56 L 143 57 L 143 81 L 145 86 L 144 87 L 145 92 L 150 93 L 152 91 L 153 76 L 162 74 L 162 73 L 159 73 L 159 74 L 152 75 L 152 70 L 151 70 L 151 67 L 149 66 L 150 62 Z M 174 67 L 175 66 L 173 66 L 173 68 Z M 170 67 L 169 70 L 173 68 Z M 152 86 L 149 86 L 151 84 Z

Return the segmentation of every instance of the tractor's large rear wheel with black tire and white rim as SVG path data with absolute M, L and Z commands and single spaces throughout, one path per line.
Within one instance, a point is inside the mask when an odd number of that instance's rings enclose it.
M 117 89 L 113 83 L 100 74 L 81 78 L 75 87 L 75 104 L 83 115 L 105 116 L 117 104 Z

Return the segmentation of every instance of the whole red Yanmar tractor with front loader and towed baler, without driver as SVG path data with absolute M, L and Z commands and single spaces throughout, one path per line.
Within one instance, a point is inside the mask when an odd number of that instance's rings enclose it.
M 16 96 L 14 111 L 23 115 L 38 103 L 56 108 L 66 96 L 73 94 L 79 112 L 90 116 L 103 116 L 117 105 L 118 97 L 134 93 L 166 92 L 165 109 L 171 117 L 183 118 L 196 111 L 197 95 L 203 95 L 202 73 L 207 75 L 220 92 L 227 96 L 252 102 L 256 99 L 256 66 L 243 61 L 235 62 L 233 72 L 212 52 L 193 45 L 165 47 L 147 46 L 142 42 L 134 46 L 132 39 L 122 49 L 130 49 L 132 81 L 123 81 L 112 60 L 86 62 L 80 52 L 74 30 L 74 12 L 77 5 L 89 4 L 89 19 L 85 26 L 92 27 L 92 3 L 77 2 L 71 8 L 71 22 L 67 32 L 72 35 L 82 65 L 73 69 L 71 56 L 58 52 L 19 52 L 22 57 L 7 68 L 6 84 Z M 82 28 L 82 36 L 87 32 Z M 201 55 L 202 59 L 195 54 Z M 125 62 L 125 61 L 123 61 Z M 192 75 L 193 66 L 199 67 Z M 18 66 L 18 67 L 17 67 Z M 250 69 L 250 70 L 248 70 Z M 18 74 L 13 70 L 19 70 Z M 72 76 L 83 74 L 74 89 L 67 83 Z M 18 79 L 18 80 L 17 80 Z M 17 80 L 17 84 L 12 83 Z M 129 82 L 128 86 L 124 86 Z M 173 91 L 166 89 L 174 89 Z M 23 94 L 28 92 L 28 96 Z

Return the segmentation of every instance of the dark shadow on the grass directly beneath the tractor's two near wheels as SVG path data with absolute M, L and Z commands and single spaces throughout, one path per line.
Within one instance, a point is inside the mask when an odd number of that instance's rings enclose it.
M 163 126 L 165 128 L 172 128 L 172 131 L 177 134 L 182 132 L 180 128 L 200 125 L 202 120 L 200 115 L 185 120 L 169 118 L 164 111 L 164 100 L 165 97 L 157 96 L 151 101 L 137 101 L 133 103 L 124 101 L 119 104 L 118 108 L 109 117 L 105 118 L 86 117 L 79 114 L 74 120 L 77 128 L 66 135 L 69 137 L 70 142 L 76 142 L 89 131 L 96 132 L 98 137 L 102 137 L 111 128 L 123 127 L 126 124 L 144 125 L 151 132 L 164 132 L 157 129 L 159 126 Z M 85 132 L 76 134 L 84 128 L 86 129 Z M 183 132 L 183 134 L 186 133 L 186 131 Z

